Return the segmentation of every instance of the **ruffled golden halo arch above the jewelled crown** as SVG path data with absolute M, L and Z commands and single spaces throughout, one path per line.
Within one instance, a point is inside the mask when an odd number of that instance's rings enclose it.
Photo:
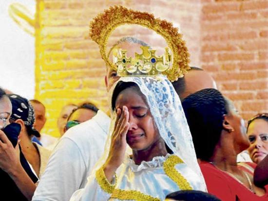
M 147 27 L 161 35 L 172 51 L 172 67 L 163 72 L 171 81 L 182 77 L 189 67 L 189 53 L 182 40 L 182 35 L 172 23 L 166 20 L 154 18 L 153 14 L 134 11 L 123 6 L 111 6 L 108 10 L 98 14 L 90 24 L 90 37 L 96 41 L 100 48 L 100 54 L 107 66 L 117 70 L 106 54 L 107 41 L 116 27 L 123 24 L 138 24 Z

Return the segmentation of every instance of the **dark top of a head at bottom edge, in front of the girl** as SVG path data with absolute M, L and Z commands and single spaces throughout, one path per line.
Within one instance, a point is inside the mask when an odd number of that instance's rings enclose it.
M 176 201 L 220 201 L 216 196 L 196 190 L 181 190 L 170 193 L 166 199 Z

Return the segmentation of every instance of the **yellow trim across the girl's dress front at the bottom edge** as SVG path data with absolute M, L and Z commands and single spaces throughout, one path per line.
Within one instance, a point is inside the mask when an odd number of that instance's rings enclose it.
M 134 200 L 134 201 L 160 201 L 159 198 L 145 195 L 139 191 L 115 189 L 111 198 L 119 200 Z

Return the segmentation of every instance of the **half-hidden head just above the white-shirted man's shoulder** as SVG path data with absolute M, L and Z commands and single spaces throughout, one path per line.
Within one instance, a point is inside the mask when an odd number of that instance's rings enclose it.
M 64 127 L 64 132 L 75 125 L 91 120 L 97 114 L 97 111 L 98 108 L 91 102 L 79 104 L 69 115 L 66 126 Z

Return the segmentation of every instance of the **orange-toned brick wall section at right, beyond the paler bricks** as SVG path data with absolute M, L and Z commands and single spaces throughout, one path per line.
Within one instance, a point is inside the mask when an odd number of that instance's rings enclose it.
M 201 66 L 245 119 L 268 111 L 268 0 L 202 0 Z

